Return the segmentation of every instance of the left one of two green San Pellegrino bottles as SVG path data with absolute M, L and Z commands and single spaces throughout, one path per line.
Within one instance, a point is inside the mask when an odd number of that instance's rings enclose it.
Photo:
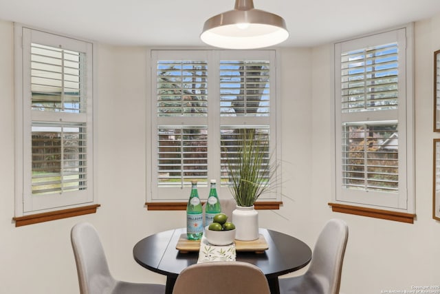
M 191 182 L 191 194 L 186 205 L 186 235 L 188 240 L 200 240 L 203 235 L 203 214 L 197 181 Z

